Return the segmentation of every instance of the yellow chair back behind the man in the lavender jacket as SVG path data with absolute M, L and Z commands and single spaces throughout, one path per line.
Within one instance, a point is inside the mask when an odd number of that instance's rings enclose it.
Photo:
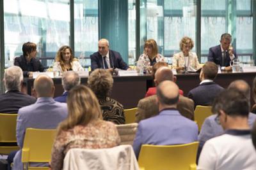
M 49 169 L 49 167 L 28 167 L 30 162 L 50 162 L 56 129 L 27 128 L 22 148 L 21 162 L 24 169 Z

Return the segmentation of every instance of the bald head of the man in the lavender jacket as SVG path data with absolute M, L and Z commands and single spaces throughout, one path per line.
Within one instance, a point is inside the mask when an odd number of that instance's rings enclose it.
M 53 97 L 54 96 L 54 83 L 52 79 L 45 75 L 39 75 L 34 81 L 34 89 L 36 97 Z

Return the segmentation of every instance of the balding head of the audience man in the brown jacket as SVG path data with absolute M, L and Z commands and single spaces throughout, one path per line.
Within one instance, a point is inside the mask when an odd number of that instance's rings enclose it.
M 170 69 L 169 67 L 159 67 L 159 69 L 157 69 L 156 71 L 155 80 L 154 80 L 156 83 L 156 86 L 165 80 L 175 81 L 172 73 L 172 69 Z

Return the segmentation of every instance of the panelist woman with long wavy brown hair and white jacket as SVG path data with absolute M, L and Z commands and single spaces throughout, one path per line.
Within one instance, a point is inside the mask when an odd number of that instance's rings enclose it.
M 59 71 L 60 73 L 63 73 L 70 70 L 83 71 L 83 67 L 74 57 L 72 49 L 69 46 L 64 45 L 61 46 L 56 54 L 53 71 Z

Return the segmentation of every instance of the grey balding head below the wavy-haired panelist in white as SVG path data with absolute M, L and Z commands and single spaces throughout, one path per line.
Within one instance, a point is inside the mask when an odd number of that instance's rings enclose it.
M 80 84 L 80 77 L 75 71 L 67 71 L 62 76 L 62 86 L 65 91 L 71 90 Z

